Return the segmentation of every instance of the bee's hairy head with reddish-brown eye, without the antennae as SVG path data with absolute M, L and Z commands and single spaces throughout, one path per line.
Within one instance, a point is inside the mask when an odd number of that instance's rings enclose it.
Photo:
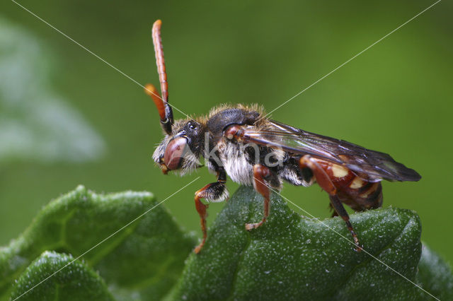
M 160 165 L 162 172 L 177 170 L 185 175 L 201 167 L 200 154 L 204 144 L 204 126 L 195 120 L 177 120 L 171 134 L 154 151 L 154 162 Z

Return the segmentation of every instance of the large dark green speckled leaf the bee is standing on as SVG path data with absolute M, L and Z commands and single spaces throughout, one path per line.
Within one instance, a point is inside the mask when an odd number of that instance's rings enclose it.
M 351 216 L 365 252 L 352 250 L 340 218 L 302 218 L 273 194 L 270 218 L 263 199 L 241 187 L 210 228 L 200 254 L 191 254 L 173 300 L 396 300 L 430 299 L 415 285 L 421 253 L 420 219 L 413 211 L 386 208 Z M 340 237 L 343 235 L 347 240 Z

